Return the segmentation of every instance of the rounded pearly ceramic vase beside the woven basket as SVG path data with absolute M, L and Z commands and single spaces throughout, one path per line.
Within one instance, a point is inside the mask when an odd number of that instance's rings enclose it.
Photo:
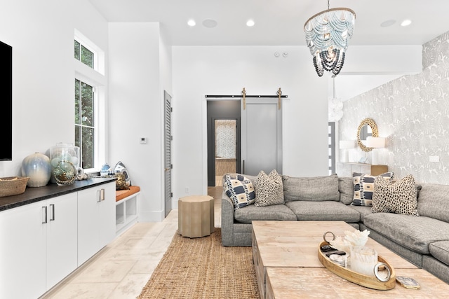
M 28 176 L 28 187 L 46 186 L 51 178 L 50 158 L 43 153 L 27 155 L 22 161 L 22 176 Z

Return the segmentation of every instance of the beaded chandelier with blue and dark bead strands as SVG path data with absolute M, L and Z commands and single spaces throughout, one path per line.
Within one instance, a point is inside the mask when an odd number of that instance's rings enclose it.
M 354 33 L 356 13 L 349 8 L 321 11 L 304 24 L 307 46 L 314 57 L 316 74 L 332 71 L 337 76 L 344 64 L 344 53 Z

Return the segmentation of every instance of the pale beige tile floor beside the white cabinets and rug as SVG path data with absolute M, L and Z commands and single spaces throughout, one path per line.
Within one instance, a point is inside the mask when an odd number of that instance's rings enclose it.
M 215 227 L 221 226 L 222 187 L 208 188 L 215 198 Z M 41 297 L 136 298 L 166 252 L 177 230 L 177 210 L 159 223 L 136 223 Z

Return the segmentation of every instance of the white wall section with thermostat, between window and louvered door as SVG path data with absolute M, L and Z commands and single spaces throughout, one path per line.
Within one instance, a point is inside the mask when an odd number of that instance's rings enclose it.
M 171 85 L 170 75 L 161 80 L 169 63 L 160 63 L 159 38 L 158 23 L 109 23 L 109 163 L 121 160 L 140 186 L 139 221 L 163 219 L 161 88 Z

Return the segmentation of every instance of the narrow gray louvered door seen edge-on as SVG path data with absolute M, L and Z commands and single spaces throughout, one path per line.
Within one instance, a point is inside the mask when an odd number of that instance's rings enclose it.
M 172 107 L 171 107 L 171 96 L 168 95 L 168 92 L 164 90 L 163 92 L 164 102 L 165 102 L 165 134 L 164 134 L 164 164 L 165 164 L 165 216 L 168 215 L 171 211 L 171 198 L 173 197 L 171 192 L 171 169 L 173 168 L 173 165 L 171 164 L 171 141 L 173 137 L 171 136 L 171 113 L 172 113 Z

